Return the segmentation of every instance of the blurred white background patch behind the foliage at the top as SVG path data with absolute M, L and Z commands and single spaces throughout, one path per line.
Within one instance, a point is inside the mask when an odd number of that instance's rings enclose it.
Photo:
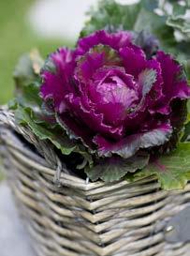
M 39 0 L 30 9 L 29 19 L 34 30 L 44 38 L 75 40 L 86 21 L 85 13 L 97 0 Z M 133 4 L 139 0 L 117 0 Z

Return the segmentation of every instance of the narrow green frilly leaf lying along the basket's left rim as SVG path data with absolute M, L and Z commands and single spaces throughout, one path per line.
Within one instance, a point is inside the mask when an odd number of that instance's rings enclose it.
M 16 122 L 22 125 L 29 126 L 34 134 L 40 140 L 49 140 L 53 143 L 58 149 L 61 150 L 62 154 L 69 155 L 76 148 L 76 145 L 72 143 L 64 134 L 63 130 L 59 128 L 50 128 L 46 124 L 40 124 L 35 122 L 36 116 L 30 108 L 18 107 L 15 112 Z

